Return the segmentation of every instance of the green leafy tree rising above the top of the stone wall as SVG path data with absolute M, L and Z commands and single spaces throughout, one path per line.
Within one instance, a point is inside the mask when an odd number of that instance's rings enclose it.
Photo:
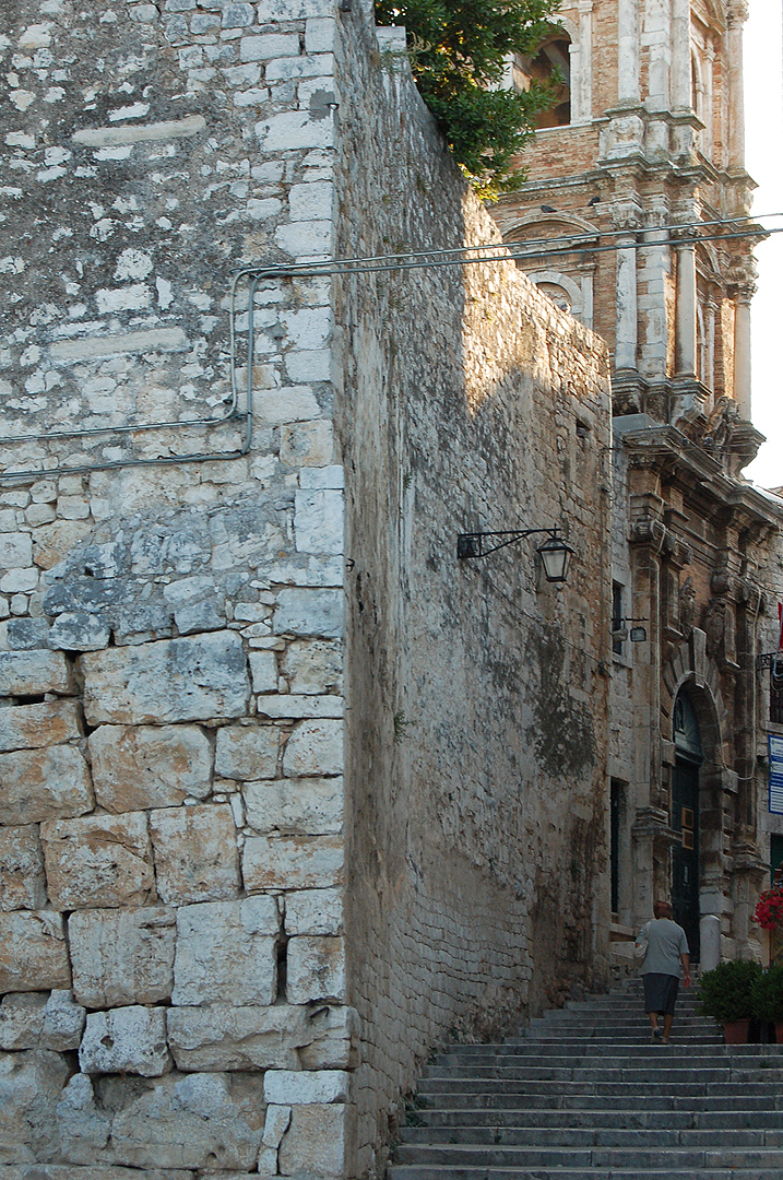
M 376 0 L 379 25 L 404 25 L 422 98 L 458 164 L 486 199 L 518 188 L 511 165 L 554 100 L 547 84 L 498 90 L 509 53 L 552 33 L 560 0 Z

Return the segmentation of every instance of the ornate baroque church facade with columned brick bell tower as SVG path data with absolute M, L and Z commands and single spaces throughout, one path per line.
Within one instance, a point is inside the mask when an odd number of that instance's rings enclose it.
M 742 476 L 762 441 L 746 17 L 745 0 L 566 2 L 550 44 L 509 71 L 525 88 L 557 66 L 559 93 L 495 219 L 518 264 L 612 358 L 616 962 L 669 893 L 696 958 L 702 940 L 709 964 L 758 955 L 750 919 L 779 861 L 779 713 L 756 666 L 777 648 L 782 505 Z

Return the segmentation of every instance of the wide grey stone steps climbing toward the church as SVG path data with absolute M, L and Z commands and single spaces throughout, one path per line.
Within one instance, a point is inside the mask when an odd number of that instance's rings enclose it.
M 682 989 L 671 1044 L 651 1044 L 643 1008 L 634 979 L 440 1054 L 389 1180 L 783 1175 L 783 1045 L 725 1045 Z

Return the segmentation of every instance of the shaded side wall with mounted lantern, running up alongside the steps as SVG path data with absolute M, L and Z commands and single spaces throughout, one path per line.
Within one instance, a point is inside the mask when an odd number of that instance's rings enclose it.
M 496 241 L 393 34 L 342 27 L 340 256 Z M 513 264 L 357 271 L 335 322 L 355 1171 L 380 1176 L 435 1045 L 606 977 L 610 388 Z M 458 533 L 513 526 L 565 531 L 566 586 L 540 538 L 458 562 Z

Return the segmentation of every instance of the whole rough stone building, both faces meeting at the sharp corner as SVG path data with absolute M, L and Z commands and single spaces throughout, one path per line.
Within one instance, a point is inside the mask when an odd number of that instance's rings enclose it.
M 508 263 L 232 297 L 494 235 L 395 44 L 331 0 L 4 4 L 0 1180 L 377 1175 L 449 1029 L 600 972 L 603 346 Z M 592 555 L 567 598 L 527 553 L 511 614 L 430 577 L 520 504 Z

